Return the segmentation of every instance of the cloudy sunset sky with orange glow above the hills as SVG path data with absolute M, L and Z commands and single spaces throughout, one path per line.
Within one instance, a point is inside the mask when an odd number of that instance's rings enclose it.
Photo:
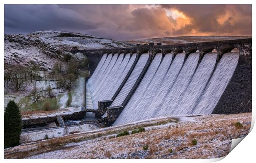
M 115 40 L 251 36 L 251 5 L 5 5 L 5 34 L 56 30 Z

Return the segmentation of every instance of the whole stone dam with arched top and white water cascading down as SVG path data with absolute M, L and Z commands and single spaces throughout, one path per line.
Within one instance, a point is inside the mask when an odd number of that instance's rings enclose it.
M 95 50 L 91 56 L 96 53 L 102 57 L 86 84 L 92 103 L 86 100 L 86 107 L 107 116 L 107 125 L 158 116 L 251 112 L 251 39 L 150 43 Z

